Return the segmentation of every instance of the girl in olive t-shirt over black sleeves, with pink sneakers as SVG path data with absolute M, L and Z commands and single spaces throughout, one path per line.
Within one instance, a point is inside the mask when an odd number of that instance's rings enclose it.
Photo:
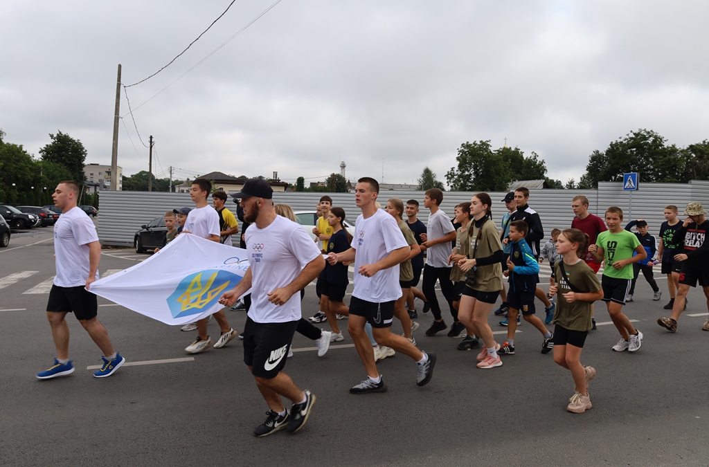
M 468 231 L 469 259 L 458 261 L 458 266 L 466 273 L 459 318 L 469 333 L 480 337 L 485 343 L 477 356 L 478 368 L 502 365 L 497 354 L 500 344 L 493 339 L 487 320 L 502 288 L 502 243 L 492 221 L 491 206 L 488 193 L 477 193 L 471 198 L 470 213 L 474 222 L 470 223 Z

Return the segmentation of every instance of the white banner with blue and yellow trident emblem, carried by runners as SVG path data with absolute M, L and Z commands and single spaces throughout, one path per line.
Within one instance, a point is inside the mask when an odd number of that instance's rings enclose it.
M 241 281 L 245 249 L 178 235 L 145 261 L 90 286 L 97 296 L 162 321 L 184 325 L 216 313 L 219 297 Z

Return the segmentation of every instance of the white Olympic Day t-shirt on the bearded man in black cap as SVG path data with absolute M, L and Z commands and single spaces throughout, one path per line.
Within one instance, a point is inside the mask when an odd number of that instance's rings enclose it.
M 264 229 L 250 225 L 245 235 L 252 277 L 248 316 L 255 322 L 300 320 L 300 293 L 294 293 L 283 305 L 269 302 L 266 294 L 293 282 L 309 262 L 320 256 L 317 245 L 300 224 L 281 215 Z

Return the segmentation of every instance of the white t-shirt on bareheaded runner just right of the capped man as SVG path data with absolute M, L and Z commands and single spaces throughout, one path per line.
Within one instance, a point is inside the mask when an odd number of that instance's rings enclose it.
M 372 277 L 359 274 L 359 266 L 374 264 L 384 259 L 395 249 L 408 247 L 396 220 L 377 209 L 374 215 L 365 219 L 362 214 L 354 223 L 354 237 L 350 246 L 357 250 L 354 255 L 354 291 L 352 296 L 373 303 L 384 303 L 401 297 L 398 283 L 399 266 L 382 269 Z

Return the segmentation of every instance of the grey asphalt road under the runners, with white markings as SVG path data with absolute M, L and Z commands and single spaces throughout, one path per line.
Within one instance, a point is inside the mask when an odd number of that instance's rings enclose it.
M 313 414 L 297 434 L 257 439 L 252 429 L 267 406 L 236 339 L 194 359 L 126 365 L 96 379 L 86 368 L 101 363 L 101 352 L 69 315 L 77 371 L 38 381 L 35 373 L 54 356 L 44 311 L 52 252 L 52 227 L 13 235 L 10 247 L 0 249 L 1 465 L 709 465 L 709 332 L 700 330 L 707 312 L 700 290 L 691 290 L 679 332 L 670 334 L 655 324 L 666 315 L 666 284 L 659 282 L 664 297 L 654 302 L 640 279 L 626 313 L 644 333 L 642 348 L 610 351 L 618 341 L 610 324 L 591 333 L 582 361 L 598 376 L 590 389 L 593 409 L 582 415 L 566 412 L 571 377 L 552 354 L 540 354 L 540 335 L 526 323 L 517 353 L 485 371 L 475 367 L 475 351 L 455 349 L 458 339 L 425 337 L 432 318 L 419 310 L 419 347 L 438 354 L 431 383 L 415 386 L 415 364 L 396 355 L 379 362 L 389 392 L 369 395 L 348 393 L 366 376 L 349 336 L 318 358 L 313 342 L 296 334 L 285 371 L 316 394 Z M 100 269 L 118 271 L 145 257 L 104 249 Z M 190 357 L 183 349 L 194 333 L 99 303 L 99 319 L 128 362 Z M 309 286 L 303 315 L 316 310 Z M 601 303 L 596 316 L 610 322 Z M 504 332 L 495 318 L 493 331 Z M 245 313 L 229 311 L 228 319 L 241 330 Z M 218 333 L 215 323 L 210 330 Z

